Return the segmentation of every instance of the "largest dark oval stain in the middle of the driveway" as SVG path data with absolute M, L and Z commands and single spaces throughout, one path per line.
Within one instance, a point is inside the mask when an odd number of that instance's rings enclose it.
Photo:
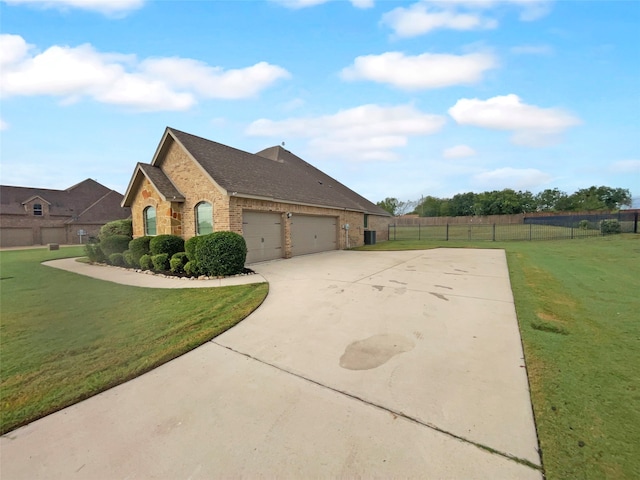
M 396 355 L 413 350 L 415 343 L 402 335 L 374 335 L 355 341 L 345 348 L 340 366 L 348 370 L 371 370 Z

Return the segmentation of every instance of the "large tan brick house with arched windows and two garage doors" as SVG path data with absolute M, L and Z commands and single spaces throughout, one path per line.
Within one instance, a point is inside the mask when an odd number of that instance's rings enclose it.
M 133 236 L 232 231 L 247 263 L 387 240 L 390 215 L 282 147 L 257 154 L 167 128 L 122 202 Z

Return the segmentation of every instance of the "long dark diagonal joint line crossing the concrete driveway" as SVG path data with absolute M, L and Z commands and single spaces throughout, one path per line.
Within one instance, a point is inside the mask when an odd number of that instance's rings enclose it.
M 390 267 L 390 268 L 392 268 L 392 267 Z M 387 270 L 387 269 L 385 269 L 385 270 Z M 349 392 L 346 392 L 344 390 L 340 390 L 340 389 L 337 389 L 337 388 L 334 388 L 334 387 L 330 387 L 329 385 L 325 385 L 325 384 L 320 383 L 320 382 L 318 382 L 316 380 L 313 380 L 313 379 L 311 379 L 309 377 L 305 377 L 304 375 L 300 375 L 299 373 L 291 372 L 290 370 L 286 370 L 286 369 L 284 369 L 282 367 L 279 367 L 278 365 L 274 365 L 273 363 L 269 363 L 269 362 L 266 362 L 264 360 L 261 360 L 261 359 L 259 359 L 257 357 L 254 357 L 253 355 L 250 355 L 248 353 L 241 352 L 239 350 L 235 350 L 234 348 L 231 348 L 231 347 L 229 347 L 227 345 L 222 345 L 222 344 L 216 342 L 215 339 L 210 340 L 210 343 L 213 343 L 214 345 L 217 345 L 219 347 L 227 349 L 227 350 L 229 350 L 229 351 L 231 351 L 233 353 L 236 353 L 238 355 L 242 355 L 243 357 L 249 358 L 249 359 L 254 360 L 254 361 L 256 361 L 258 363 L 261 363 L 263 365 L 267 365 L 269 367 L 275 368 L 276 370 L 279 370 L 279 371 L 281 371 L 283 373 L 286 373 L 288 375 L 292 375 L 292 376 L 294 376 L 296 378 L 299 378 L 299 379 L 304 380 L 306 382 L 309 382 L 309 383 L 312 383 L 314 385 L 317 385 L 317 386 L 319 386 L 321 388 L 325 388 L 325 389 L 330 390 L 330 391 L 332 391 L 334 393 L 338 393 L 338 394 L 343 395 L 345 397 L 349 397 L 349 398 L 351 398 L 353 400 L 356 400 L 358 402 L 364 403 L 365 405 L 368 405 L 370 407 L 377 408 L 377 409 L 382 410 L 384 412 L 390 413 L 392 415 L 395 415 L 396 417 L 400 417 L 400 418 L 402 418 L 402 419 L 404 419 L 406 421 L 409 421 L 411 423 L 415 423 L 415 424 L 420 425 L 422 427 L 429 428 L 429 429 L 434 430 L 434 431 L 436 431 L 438 433 L 441 433 L 443 435 L 447 435 L 447 436 L 449 436 L 451 438 L 455 438 L 458 441 L 461 441 L 461 442 L 464 442 L 464 443 L 468 443 L 470 445 L 473 445 L 476 448 L 484 450 L 485 452 L 489 452 L 489 453 L 491 453 L 493 455 L 498 455 L 498 456 L 503 457 L 503 458 L 505 458 L 507 460 L 511 460 L 513 462 L 519 463 L 521 465 L 524 465 L 526 467 L 532 468 L 534 470 L 542 471 L 542 466 L 537 465 L 537 464 L 535 464 L 535 463 L 533 463 L 533 462 L 531 462 L 531 461 L 529 461 L 529 460 L 527 460 L 525 458 L 520 458 L 520 457 L 517 457 L 515 455 L 511 455 L 509 453 L 502 452 L 500 450 L 496 450 L 495 448 L 491 448 L 488 445 L 484 445 L 482 443 L 475 442 L 473 440 L 470 440 L 468 438 L 462 437 L 460 435 L 456 435 L 453 432 L 449 432 L 448 430 L 444 430 L 444 429 L 438 427 L 437 425 L 433 425 L 433 424 L 431 424 L 429 422 L 424 422 L 424 421 L 422 421 L 422 420 L 420 420 L 418 418 L 412 417 L 412 416 L 410 416 L 410 415 L 408 415 L 408 414 L 406 414 L 404 412 L 401 412 L 401 411 L 398 411 L 398 410 L 394 410 L 394 409 L 389 408 L 389 407 L 385 407 L 384 405 L 380 405 L 378 403 L 371 402 L 371 401 L 366 400 L 366 399 L 364 399 L 362 397 L 359 397 L 358 395 L 354 395 L 353 393 L 349 393 Z

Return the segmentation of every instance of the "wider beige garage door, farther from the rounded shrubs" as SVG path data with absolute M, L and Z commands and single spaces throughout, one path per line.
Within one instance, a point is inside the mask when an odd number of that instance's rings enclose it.
M 293 255 L 324 252 L 338 248 L 337 217 L 294 215 L 291 218 Z

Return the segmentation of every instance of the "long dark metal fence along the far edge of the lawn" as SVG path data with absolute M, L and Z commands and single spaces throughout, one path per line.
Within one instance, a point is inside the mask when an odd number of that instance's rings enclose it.
M 638 233 L 635 222 L 620 222 L 621 233 Z M 583 223 L 579 226 L 550 224 L 483 224 L 483 225 L 389 225 L 389 240 L 479 240 L 534 241 L 597 237 L 604 235 L 599 225 Z

